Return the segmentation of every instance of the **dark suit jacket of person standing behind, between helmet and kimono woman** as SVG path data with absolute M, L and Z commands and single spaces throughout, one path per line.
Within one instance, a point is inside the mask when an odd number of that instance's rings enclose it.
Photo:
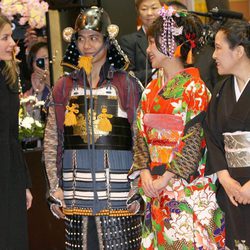
M 144 86 L 147 85 L 151 80 L 152 66 L 148 60 L 148 74 L 146 77 L 146 49 L 148 47 L 148 40 L 143 29 L 140 28 L 134 33 L 122 36 L 120 46 L 130 60 L 128 70 L 133 71 Z M 146 78 L 147 83 L 145 83 Z

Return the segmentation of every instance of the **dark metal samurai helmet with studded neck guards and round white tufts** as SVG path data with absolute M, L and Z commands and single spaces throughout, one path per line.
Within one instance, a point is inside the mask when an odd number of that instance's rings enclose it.
M 107 59 L 114 69 L 126 69 L 128 67 L 129 59 L 115 39 L 119 27 L 111 24 L 109 15 L 103 8 L 96 6 L 80 12 L 75 22 L 75 29 L 67 27 L 63 30 L 63 38 L 70 44 L 61 62 L 62 66 L 79 69 L 78 61 L 81 55 L 77 48 L 77 35 L 81 30 L 94 30 L 104 36 L 108 48 Z

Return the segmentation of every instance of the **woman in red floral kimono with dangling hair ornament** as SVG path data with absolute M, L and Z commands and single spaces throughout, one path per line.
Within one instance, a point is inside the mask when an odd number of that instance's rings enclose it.
M 163 68 L 164 80 L 151 81 L 142 94 L 129 172 L 139 178 L 145 203 L 141 249 L 224 249 L 216 176 L 204 175 L 202 122 L 210 92 L 191 66 L 202 22 L 164 6 L 147 34 L 147 53 L 153 67 Z

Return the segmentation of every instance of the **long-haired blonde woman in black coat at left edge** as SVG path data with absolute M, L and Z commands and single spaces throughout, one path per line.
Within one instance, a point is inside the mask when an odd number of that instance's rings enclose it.
M 30 181 L 18 142 L 18 80 L 11 23 L 0 14 L 0 249 L 27 250 Z

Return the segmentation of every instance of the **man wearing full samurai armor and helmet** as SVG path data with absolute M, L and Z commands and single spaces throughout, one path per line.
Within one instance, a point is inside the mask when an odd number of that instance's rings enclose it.
M 66 29 L 65 34 L 72 31 Z M 66 249 L 139 249 L 141 217 L 126 208 L 132 124 L 142 92 L 125 72 L 118 27 L 99 7 L 82 10 L 54 86 L 44 158 L 52 213 L 66 224 Z

